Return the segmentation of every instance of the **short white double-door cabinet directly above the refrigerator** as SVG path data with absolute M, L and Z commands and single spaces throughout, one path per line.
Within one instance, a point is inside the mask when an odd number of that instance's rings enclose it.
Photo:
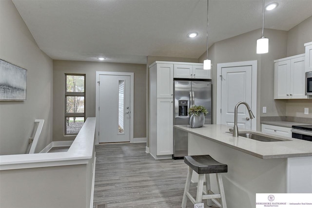
M 174 64 L 174 78 L 211 79 L 211 70 L 204 70 L 203 64 Z

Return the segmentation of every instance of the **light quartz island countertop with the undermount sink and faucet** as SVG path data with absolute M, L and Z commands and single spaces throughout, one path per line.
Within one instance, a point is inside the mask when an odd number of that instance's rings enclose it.
M 175 125 L 174 127 L 261 159 L 312 156 L 312 142 L 310 141 L 282 136 L 279 137 L 290 141 L 261 142 L 242 136 L 233 137 L 232 134 L 226 133 L 229 132 L 228 126 L 218 124 L 208 124 L 195 129 L 190 128 L 189 125 Z M 257 132 L 239 129 L 239 132 L 245 131 Z M 259 133 L 276 137 L 273 134 Z

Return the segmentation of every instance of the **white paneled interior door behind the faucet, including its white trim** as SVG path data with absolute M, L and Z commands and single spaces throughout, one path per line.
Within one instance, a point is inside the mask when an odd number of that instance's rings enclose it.
M 234 126 L 235 105 L 244 101 L 256 115 L 256 61 L 218 64 L 217 124 Z M 237 109 L 237 126 L 256 130 L 245 105 Z

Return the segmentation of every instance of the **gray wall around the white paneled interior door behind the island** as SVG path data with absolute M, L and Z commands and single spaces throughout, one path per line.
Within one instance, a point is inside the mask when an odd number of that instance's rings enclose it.
M 218 63 L 257 60 L 257 118 L 260 116 L 285 115 L 286 101 L 274 101 L 274 64 L 273 60 L 286 57 L 287 32 L 265 29 L 265 36 L 269 38 L 269 53 L 256 54 L 256 40 L 261 36 L 261 30 L 255 30 L 233 38 L 216 42 L 208 51 L 212 59 L 212 78 L 216 84 L 216 70 Z M 206 59 L 206 54 L 199 58 L 199 62 Z M 216 123 L 216 88 L 213 89 L 213 112 Z M 267 107 L 267 113 L 262 113 L 262 106 Z M 260 119 L 257 119 L 257 130 L 260 130 Z

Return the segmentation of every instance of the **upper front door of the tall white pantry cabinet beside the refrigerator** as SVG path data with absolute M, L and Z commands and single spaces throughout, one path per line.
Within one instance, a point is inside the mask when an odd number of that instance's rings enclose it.
M 157 98 L 173 98 L 173 64 L 157 64 Z

